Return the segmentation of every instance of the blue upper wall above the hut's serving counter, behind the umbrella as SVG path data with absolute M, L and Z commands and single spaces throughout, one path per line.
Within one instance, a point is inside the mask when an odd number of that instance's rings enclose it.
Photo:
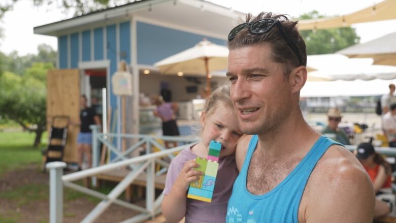
M 137 22 L 137 35 L 140 65 L 152 65 L 163 58 L 193 47 L 205 37 L 143 22 Z M 225 39 L 207 39 L 218 45 L 227 44 Z

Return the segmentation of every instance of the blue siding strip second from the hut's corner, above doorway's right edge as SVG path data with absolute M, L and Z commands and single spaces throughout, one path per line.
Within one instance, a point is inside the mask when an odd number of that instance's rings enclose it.
M 114 72 L 117 71 L 117 45 L 116 45 L 116 25 L 109 25 L 106 27 L 106 38 L 107 38 L 107 59 L 110 60 L 110 80 L 114 74 Z M 110 85 L 110 105 L 113 107 L 113 109 L 117 105 L 117 98 L 113 94 L 113 90 L 111 89 Z M 114 111 L 114 110 L 113 110 Z

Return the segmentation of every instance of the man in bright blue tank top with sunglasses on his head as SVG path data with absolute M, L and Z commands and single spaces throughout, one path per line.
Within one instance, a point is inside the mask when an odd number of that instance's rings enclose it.
M 241 131 L 256 135 L 238 144 L 226 222 L 371 222 L 365 169 L 301 113 L 307 56 L 295 25 L 260 13 L 228 35 L 230 96 Z

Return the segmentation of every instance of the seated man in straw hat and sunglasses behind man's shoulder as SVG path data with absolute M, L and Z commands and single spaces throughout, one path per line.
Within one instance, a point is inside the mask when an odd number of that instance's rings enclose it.
M 341 118 L 342 115 L 340 110 L 338 110 L 337 108 L 328 109 L 327 112 L 328 124 L 323 129 L 322 134 L 334 135 L 334 138 L 333 137 L 330 138 L 333 138 L 337 142 L 342 143 L 344 145 L 350 145 L 349 138 L 347 137 L 345 132 L 342 129 L 338 128 L 338 124 L 341 122 Z

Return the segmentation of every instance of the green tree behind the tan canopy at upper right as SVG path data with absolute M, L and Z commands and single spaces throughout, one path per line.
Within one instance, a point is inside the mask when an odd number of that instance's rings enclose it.
M 312 11 L 301 15 L 299 19 L 317 19 L 323 17 L 318 11 Z M 300 33 L 307 45 L 308 55 L 334 53 L 360 41 L 360 37 L 356 35 L 355 29 L 351 27 L 301 30 Z

